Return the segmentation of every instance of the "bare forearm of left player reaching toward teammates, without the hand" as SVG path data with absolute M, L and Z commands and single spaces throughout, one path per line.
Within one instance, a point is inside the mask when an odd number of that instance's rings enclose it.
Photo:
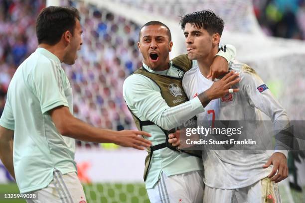
M 86 142 L 117 143 L 118 132 L 93 127 L 75 117 L 65 123 L 62 135 Z

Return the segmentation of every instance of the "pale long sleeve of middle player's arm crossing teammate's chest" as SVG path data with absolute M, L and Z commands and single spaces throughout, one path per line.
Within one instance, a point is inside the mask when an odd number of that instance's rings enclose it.
M 140 74 L 125 80 L 123 96 L 133 113 L 137 111 L 136 115 L 138 113 L 165 130 L 175 128 L 204 111 L 198 98 L 169 107 L 152 80 Z

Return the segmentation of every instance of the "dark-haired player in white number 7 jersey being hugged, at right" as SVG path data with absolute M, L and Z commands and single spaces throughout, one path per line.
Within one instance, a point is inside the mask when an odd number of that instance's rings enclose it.
M 206 78 L 223 30 L 223 20 L 210 10 L 185 15 L 181 21 L 187 55 L 198 68 L 185 73 L 182 85 L 189 99 L 206 91 L 214 82 Z M 193 61 L 194 62 L 194 61 Z M 198 120 L 256 120 L 256 109 L 273 122 L 289 122 L 287 113 L 253 69 L 237 61 L 229 64 L 240 74 L 240 83 L 228 95 L 213 100 Z M 176 136 L 176 137 L 175 137 Z M 253 135 L 254 136 L 254 135 Z M 177 133 L 170 143 L 180 144 Z M 287 151 L 220 151 L 203 152 L 204 203 L 281 202 L 277 183 L 287 178 Z M 273 167 L 271 166 L 273 165 Z

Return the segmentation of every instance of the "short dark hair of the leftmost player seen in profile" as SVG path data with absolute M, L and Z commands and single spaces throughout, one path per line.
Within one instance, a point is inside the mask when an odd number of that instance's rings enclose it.
M 48 6 L 43 8 L 36 20 L 38 44 L 54 45 L 59 42 L 62 34 L 67 30 L 74 35 L 76 19 L 80 20 L 80 15 L 74 7 Z

